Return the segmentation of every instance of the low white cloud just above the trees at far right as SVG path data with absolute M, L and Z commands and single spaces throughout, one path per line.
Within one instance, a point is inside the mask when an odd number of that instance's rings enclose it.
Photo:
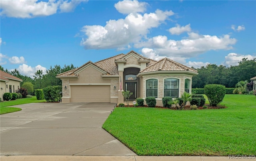
M 256 55 L 241 55 L 237 53 L 229 53 L 227 56 L 225 56 L 225 62 L 223 64 L 228 67 L 230 67 L 231 65 L 235 66 L 238 65 L 243 58 L 248 58 L 248 60 L 252 60 L 256 58 Z

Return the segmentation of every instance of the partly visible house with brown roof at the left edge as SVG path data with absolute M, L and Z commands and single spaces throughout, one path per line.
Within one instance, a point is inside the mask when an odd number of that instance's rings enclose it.
M 14 93 L 17 89 L 20 88 L 20 82 L 22 82 L 22 79 L 19 79 L 18 77 L 15 77 L 0 70 L 0 96 L 2 98 L 2 101 L 4 100 L 4 93 Z

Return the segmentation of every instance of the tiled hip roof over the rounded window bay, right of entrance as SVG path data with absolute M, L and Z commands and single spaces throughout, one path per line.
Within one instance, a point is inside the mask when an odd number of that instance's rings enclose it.
M 196 70 L 177 63 L 169 58 L 163 58 L 160 61 L 146 67 L 140 73 L 154 72 L 154 71 L 192 71 L 197 73 Z

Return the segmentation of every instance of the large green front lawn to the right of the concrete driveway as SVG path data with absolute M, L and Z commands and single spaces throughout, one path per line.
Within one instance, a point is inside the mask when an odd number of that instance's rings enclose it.
M 256 155 L 256 98 L 227 94 L 224 109 L 115 108 L 106 131 L 137 155 Z

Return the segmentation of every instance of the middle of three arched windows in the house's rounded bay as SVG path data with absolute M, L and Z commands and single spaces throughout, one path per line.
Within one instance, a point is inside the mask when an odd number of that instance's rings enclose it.
M 176 78 L 164 79 L 164 97 L 179 97 L 179 80 Z

